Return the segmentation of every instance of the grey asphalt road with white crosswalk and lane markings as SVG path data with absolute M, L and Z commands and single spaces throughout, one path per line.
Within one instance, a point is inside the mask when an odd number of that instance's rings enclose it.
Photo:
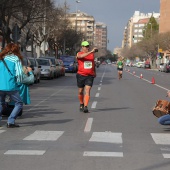
M 152 114 L 169 88 L 169 73 L 127 67 L 118 80 L 115 66 L 101 65 L 85 114 L 75 74 L 42 80 L 30 87 L 20 128 L 3 117 L 0 170 L 169 170 L 170 126 Z

